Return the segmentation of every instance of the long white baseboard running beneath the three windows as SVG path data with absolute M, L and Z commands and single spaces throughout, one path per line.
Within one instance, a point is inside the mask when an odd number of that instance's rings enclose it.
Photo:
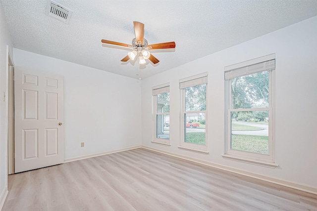
M 238 174 L 241 174 L 241 175 L 244 175 L 244 176 L 249 176 L 249 177 L 256 178 L 256 179 L 261 179 L 261 180 L 264 180 L 264 181 L 267 181 L 267 182 L 271 182 L 271 183 L 274 183 L 274 184 L 278 184 L 278 185 L 282 185 L 282 186 L 285 186 L 285 187 L 294 188 L 294 189 L 297 189 L 297 190 L 301 190 L 301 191 L 305 191 L 305 192 L 317 195 L 317 188 L 316 187 L 312 187 L 312 186 L 308 186 L 308 185 L 304 185 L 304 184 L 299 184 L 299 183 L 295 183 L 295 182 L 290 182 L 290 181 L 286 181 L 286 180 L 282 180 L 282 179 L 278 179 L 278 178 L 274 178 L 274 177 L 264 176 L 264 175 L 261 175 L 261 174 L 252 173 L 252 172 L 241 170 L 241 169 L 234 169 L 232 167 L 227 167 L 227 166 L 223 166 L 223 165 L 219 165 L 219 164 L 215 164 L 215 163 L 211 163 L 211 162 L 207 162 L 207 161 L 202 161 L 202 160 L 199 160 L 199 159 L 194 159 L 194 158 L 183 156 L 183 155 L 179 155 L 179 154 L 169 153 L 169 152 L 157 150 L 157 149 L 154 149 L 154 148 L 151 148 L 151 147 L 141 146 L 141 148 L 152 150 L 152 151 L 155 151 L 155 152 L 159 152 L 159 153 L 162 153 L 162 154 L 165 154 L 165 155 L 170 155 L 170 156 L 173 156 L 173 157 L 181 158 L 181 159 L 184 159 L 184 160 L 187 160 L 187 161 L 192 161 L 192 162 L 195 162 L 195 163 L 203 164 L 203 165 L 210 166 L 210 167 L 213 167 L 213 168 L 216 168 L 216 169 L 222 169 L 222 170 L 230 171 L 230 172 L 233 172 L 233 173 L 238 173 Z

